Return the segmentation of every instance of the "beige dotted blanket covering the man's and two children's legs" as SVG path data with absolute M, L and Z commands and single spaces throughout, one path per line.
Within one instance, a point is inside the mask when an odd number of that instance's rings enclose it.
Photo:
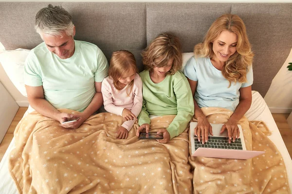
M 152 130 L 166 128 L 173 118 L 171 115 L 152 119 Z M 121 124 L 121 116 L 100 113 L 91 116 L 79 129 L 64 129 L 57 121 L 36 112 L 28 114 L 15 130 L 15 148 L 9 158 L 9 170 L 18 191 L 24 194 L 193 192 L 187 129 L 168 144 L 160 144 L 156 140 L 138 140 L 137 123 L 127 140 L 116 139 Z M 198 173 L 195 173 L 196 178 Z

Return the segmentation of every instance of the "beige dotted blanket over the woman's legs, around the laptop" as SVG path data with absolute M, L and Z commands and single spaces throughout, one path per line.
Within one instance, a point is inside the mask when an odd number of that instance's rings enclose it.
M 232 114 L 226 109 L 201 110 L 210 123 L 226 123 Z M 249 122 L 246 117 L 239 125 L 247 150 L 266 153 L 249 160 L 190 156 L 194 194 L 289 194 L 286 168 L 276 146 L 267 138 L 269 129 L 260 121 Z

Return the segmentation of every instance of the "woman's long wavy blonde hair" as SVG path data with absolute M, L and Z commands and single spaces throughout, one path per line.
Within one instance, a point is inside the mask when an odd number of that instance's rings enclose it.
M 215 55 L 213 42 L 222 31 L 237 34 L 236 52 L 226 61 L 222 68 L 222 75 L 229 81 L 230 85 L 232 81 L 246 82 L 248 66 L 252 65 L 254 53 L 247 37 L 245 25 L 237 15 L 224 14 L 216 19 L 206 33 L 203 43 L 195 46 L 195 57 L 212 58 Z

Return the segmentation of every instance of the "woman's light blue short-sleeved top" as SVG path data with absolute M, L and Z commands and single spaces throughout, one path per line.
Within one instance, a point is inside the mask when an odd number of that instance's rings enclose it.
M 231 82 L 223 77 L 222 72 L 215 68 L 210 58 L 191 57 L 186 63 L 184 75 L 198 81 L 195 99 L 199 107 L 222 107 L 234 111 L 239 103 L 239 89 L 253 84 L 253 68 L 247 72 L 247 82 Z

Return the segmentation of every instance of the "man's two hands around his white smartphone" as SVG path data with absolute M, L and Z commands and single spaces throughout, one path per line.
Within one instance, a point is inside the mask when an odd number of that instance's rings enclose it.
M 85 113 L 76 113 L 76 114 L 68 114 L 68 113 L 60 113 L 60 119 L 59 122 L 61 123 L 61 126 L 64 128 L 71 128 L 71 129 L 77 129 L 80 127 L 80 125 L 89 118 L 88 115 L 86 115 Z M 66 121 L 68 118 L 71 119 L 77 119 L 73 122 L 70 123 L 62 123 L 64 121 Z

